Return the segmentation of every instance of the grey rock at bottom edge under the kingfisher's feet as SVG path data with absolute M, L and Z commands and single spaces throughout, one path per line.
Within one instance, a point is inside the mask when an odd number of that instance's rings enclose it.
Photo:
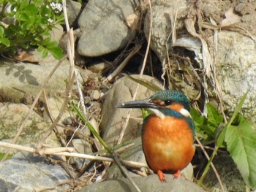
M 167 182 L 161 183 L 156 174 L 150 175 L 148 177 L 132 177 L 135 183 L 140 188 L 140 191 L 152 191 L 152 192 L 180 192 L 180 191 L 191 191 L 191 192 L 203 192 L 204 190 L 200 188 L 195 183 L 191 181 L 184 180 L 182 178 L 173 179 L 173 177 L 167 177 Z M 92 192 L 92 191 L 118 191 L 127 192 L 135 191 L 135 188 L 131 185 L 128 179 L 123 180 L 108 180 L 102 183 L 94 183 L 93 185 L 88 185 L 82 189 L 80 192 Z

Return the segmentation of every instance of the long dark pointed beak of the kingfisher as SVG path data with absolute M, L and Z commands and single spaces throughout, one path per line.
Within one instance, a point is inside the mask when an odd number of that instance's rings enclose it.
M 117 104 L 117 108 L 157 108 L 157 104 L 151 101 L 151 99 L 128 101 L 125 103 Z

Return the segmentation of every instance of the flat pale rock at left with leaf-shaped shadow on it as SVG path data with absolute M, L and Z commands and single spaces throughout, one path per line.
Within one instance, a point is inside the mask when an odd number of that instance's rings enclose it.
M 37 57 L 37 55 L 36 55 Z M 38 56 L 39 57 L 39 56 Z M 42 82 L 48 77 L 58 61 L 50 55 L 39 64 L 15 63 L 12 61 L 0 61 L 0 101 L 20 101 L 26 96 L 35 97 L 41 89 Z M 76 68 L 81 71 L 83 69 Z M 64 60 L 54 72 L 45 86 L 47 95 L 64 95 L 66 91 L 66 80 L 69 75 L 69 61 Z

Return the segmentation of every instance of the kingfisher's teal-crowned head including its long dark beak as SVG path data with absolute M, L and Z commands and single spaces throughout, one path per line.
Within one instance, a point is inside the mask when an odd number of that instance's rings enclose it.
M 176 111 L 185 117 L 191 118 L 190 102 L 184 93 L 165 90 L 154 93 L 149 99 L 138 101 L 128 101 L 116 105 L 118 108 L 148 108 L 154 112 L 159 118 L 165 118 L 168 114 L 168 109 Z

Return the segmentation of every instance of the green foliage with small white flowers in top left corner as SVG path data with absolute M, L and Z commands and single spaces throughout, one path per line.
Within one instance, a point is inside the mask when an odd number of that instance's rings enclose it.
M 38 47 L 43 56 L 62 56 L 50 30 L 64 19 L 61 4 L 50 0 L 0 0 L 0 54 L 14 55 L 18 48 Z

